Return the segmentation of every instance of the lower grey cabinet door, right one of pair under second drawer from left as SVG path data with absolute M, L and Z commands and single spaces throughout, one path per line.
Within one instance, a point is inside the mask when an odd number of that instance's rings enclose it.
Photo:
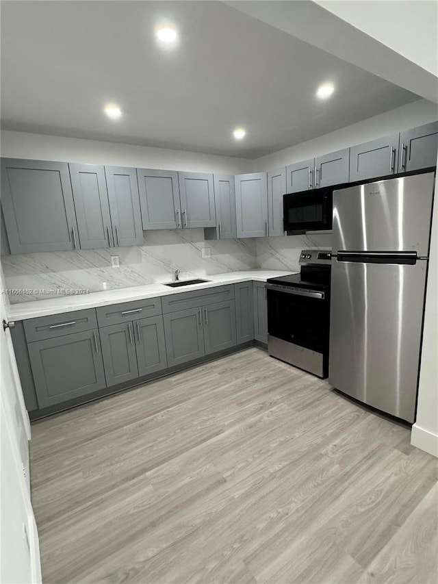
M 163 317 L 152 316 L 133 322 L 136 333 L 138 374 L 148 375 L 167 367 Z

